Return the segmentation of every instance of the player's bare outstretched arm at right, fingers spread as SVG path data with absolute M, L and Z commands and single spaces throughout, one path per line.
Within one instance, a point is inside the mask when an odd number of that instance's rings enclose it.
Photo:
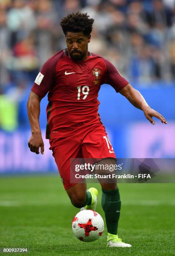
M 152 119 L 152 117 L 158 118 L 162 121 L 162 123 L 167 124 L 165 118 L 156 110 L 150 108 L 150 106 L 147 104 L 141 93 L 134 89 L 131 84 L 127 84 L 127 86 L 125 86 L 122 90 L 119 90 L 119 93 L 125 96 L 129 100 L 129 102 L 131 102 L 131 104 L 134 105 L 134 107 L 143 110 L 145 117 L 153 125 L 155 124 L 155 122 Z

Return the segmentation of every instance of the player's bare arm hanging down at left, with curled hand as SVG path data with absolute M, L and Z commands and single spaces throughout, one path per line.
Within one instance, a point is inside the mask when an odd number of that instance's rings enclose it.
M 36 154 L 39 154 L 39 148 L 41 148 L 41 154 L 44 153 L 44 143 L 41 136 L 41 129 L 39 124 L 41 99 L 41 96 L 31 91 L 27 102 L 28 118 L 30 121 L 32 133 L 28 141 L 28 147 L 30 148 L 30 151 Z

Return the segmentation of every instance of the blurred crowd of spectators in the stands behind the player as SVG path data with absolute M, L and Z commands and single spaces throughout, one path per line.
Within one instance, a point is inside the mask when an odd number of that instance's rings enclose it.
M 18 102 L 42 64 L 66 48 L 59 23 L 78 10 L 95 20 L 89 51 L 131 83 L 175 81 L 175 0 L 0 0 L 1 102 Z

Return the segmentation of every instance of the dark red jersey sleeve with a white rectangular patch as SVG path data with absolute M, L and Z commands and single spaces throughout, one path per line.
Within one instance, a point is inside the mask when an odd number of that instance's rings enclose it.
M 51 89 L 55 77 L 55 63 L 48 59 L 33 83 L 31 90 L 40 97 L 44 97 Z

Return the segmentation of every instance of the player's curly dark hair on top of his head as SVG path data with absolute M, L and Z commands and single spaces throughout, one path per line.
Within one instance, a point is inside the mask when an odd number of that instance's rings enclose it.
M 89 19 L 87 13 L 69 13 L 67 17 L 61 19 L 61 28 L 66 36 L 67 32 L 83 32 L 89 36 L 92 31 L 94 19 Z

